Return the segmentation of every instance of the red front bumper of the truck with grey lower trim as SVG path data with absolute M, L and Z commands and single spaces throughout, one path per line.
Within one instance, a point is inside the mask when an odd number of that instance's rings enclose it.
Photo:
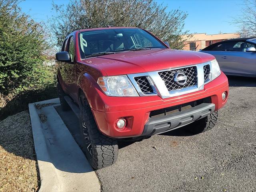
M 128 138 L 165 132 L 166 130 L 178 128 L 184 124 L 203 118 L 209 114 L 207 110 L 212 113 L 224 106 L 228 96 L 225 100 L 222 100 L 223 92 L 226 92 L 228 95 L 228 79 L 224 73 L 215 80 L 205 84 L 204 90 L 166 99 L 162 99 L 159 96 L 110 97 L 103 94 L 100 90 L 95 89 L 94 92 L 91 92 L 94 100 L 90 104 L 98 128 L 103 134 L 112 138 Z M 172 125 L 168 128 L 157 130 L 155 120 L 153 122 L 149 118 L 150 112 L 153 110 L 193 102 L 207 97 L 211 99 L 212 104 L 201 106 L 202 108 L 193 108 L 191 111 L 186 110 L 187 114 L 183 114 L 185 115 L 183 116 L 184 118 L 182 115 L 179 118 L 168 116 L 159 120 L 160 124 L 171 122 Z M 191 119 L 189 116 L 194 117 Z M 119 118 L 125 118 L 127 122 L 126 127 L 122 130 L 116 128 L 115 125 L 116 120 Z

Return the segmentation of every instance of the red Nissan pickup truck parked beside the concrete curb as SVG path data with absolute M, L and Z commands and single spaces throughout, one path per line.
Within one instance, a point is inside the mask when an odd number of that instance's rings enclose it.
M 116 162 L 120 138 L 188 124 L 194 133 L 210 130 L 228 98 L 228 80 L 214 56 L 172 50 L 141 28 L 72 32 L 56 60 L 62 109 L 79 114 L 94 169 Z

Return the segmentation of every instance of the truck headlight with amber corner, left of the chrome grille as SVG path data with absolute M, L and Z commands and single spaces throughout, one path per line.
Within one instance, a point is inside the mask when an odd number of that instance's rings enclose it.
M 108 96 L 134 97 L 139 96 L 126 75 L 98 78 L 98 85 Z

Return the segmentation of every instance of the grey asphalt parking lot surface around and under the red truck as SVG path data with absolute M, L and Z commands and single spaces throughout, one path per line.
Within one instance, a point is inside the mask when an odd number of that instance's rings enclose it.
M 191 135 L 180 128 L 119 142 L 116 164 L 96 171 L 101 190 L 256 191 L 256 79 L 229 77 L 229 82 L 228 103 L 213 130 Z M 79 143 L 76 116 L 57 111 Z

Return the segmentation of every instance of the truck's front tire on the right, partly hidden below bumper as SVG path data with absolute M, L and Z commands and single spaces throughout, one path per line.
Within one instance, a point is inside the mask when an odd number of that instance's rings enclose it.
M 218 120 L 218 111 L 214 111 L 210 115 L 200 120 L 197 120 L 187 126 L 188 132 L 193 134 L 202 133 L 211 130 Z

